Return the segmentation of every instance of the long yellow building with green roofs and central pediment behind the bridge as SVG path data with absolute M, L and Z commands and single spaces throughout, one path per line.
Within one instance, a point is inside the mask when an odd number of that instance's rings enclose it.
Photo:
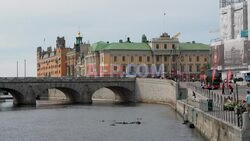
M 198 78 L 209 64 L 210 48 L 199 43 L 179 43 L 163 33 L 151 42 L 98 42 L 85 56 L 85 76 L 140 76 Z M 178 75 L 177 75 L 178 74 Z

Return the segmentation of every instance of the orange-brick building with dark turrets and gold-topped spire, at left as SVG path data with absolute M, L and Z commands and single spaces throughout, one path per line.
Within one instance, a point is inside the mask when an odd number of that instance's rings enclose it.
M 37 76 L 38 77 L 62 77 L 82 76 L 84 70 L 84 56 L 90 44 L 83 43 L 80 32 L 77 33 L 73 48 L 66 48 L 64 37 L 57 37 L 56 48 L 48 47 L 46 51 L 42 47 L 37 48 Z

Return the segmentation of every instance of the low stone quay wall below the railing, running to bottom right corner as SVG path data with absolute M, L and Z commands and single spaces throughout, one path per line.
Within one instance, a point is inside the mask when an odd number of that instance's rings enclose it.
M 176 111 L 209 141 L 249 141 L 250 139 L 248 127 L 240 129 L 181 100 L 177 101 Z M 249 125 L 249 118 L 247 122 L 245 124 Z

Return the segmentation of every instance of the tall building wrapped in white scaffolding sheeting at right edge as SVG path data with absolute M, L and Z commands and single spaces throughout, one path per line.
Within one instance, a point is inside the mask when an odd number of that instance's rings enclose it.
M 250 0 L 220 0 L 220 37 L 211 43 L 211 58 L 212 68 L 222 71 L 223 78 L 229 70 L 236 74 L 249 68 L 249 7 Z

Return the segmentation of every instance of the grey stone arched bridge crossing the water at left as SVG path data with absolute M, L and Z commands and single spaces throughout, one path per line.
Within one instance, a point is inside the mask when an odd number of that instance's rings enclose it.
M 58 89 L 72 103 L 91 104 L 92 95 L 108 88 L 123 102 L 135 102 L 135 78 L 0 78 L 0 89 L 9 92 L 17 105 L 35 105 L 36 98 Z

